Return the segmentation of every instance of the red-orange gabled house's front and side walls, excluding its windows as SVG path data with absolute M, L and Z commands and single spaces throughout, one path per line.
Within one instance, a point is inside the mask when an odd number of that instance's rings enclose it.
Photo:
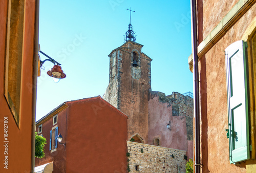
M 53 162 L 54 172 L 126 172 L 127 116 L 100 97 L 66 102 L 57 124 L 53 116 L 37 121 L 46 138 L 45 157 L 35 166 Z M 58 107 L 56 110 L 59 110 Z M 46 121 L 45 121 L 46 120 Z M 41 121 L 41 122 L 40 122 Z M 49 150 L 50 131 L 58 126 L 63 139 L 54 152 Z M 40 134 L 39 134 L 40 135 Z

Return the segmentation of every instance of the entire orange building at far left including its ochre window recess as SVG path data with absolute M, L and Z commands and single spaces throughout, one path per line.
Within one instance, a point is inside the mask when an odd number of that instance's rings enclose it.
M 36 2 L 0 1 L 0 172 L 34 167 Z

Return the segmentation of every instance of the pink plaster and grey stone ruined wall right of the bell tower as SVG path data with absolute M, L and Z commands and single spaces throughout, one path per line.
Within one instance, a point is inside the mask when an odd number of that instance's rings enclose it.
M 166 124 L 170 124 L 170 129 Z M 178 92 L 152 92 L 148 101 L 148 144 L 187 151 L 193 158 L 193 98 Z

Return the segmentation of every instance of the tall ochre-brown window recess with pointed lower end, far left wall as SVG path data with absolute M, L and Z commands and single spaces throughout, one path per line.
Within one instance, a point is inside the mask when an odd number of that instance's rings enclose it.
M 24 1 L 8 1 L 9 9 L 5 59 L 5 98 L 19 126 L 22 83 Z

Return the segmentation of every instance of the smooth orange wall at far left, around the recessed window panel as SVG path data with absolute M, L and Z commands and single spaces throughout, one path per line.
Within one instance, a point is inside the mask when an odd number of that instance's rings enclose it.
M 24 43 L 22 82 L 20 93 L 20 120 L 16 125 L 7 101 L 4 97 L 5 51 L 6 51 L 6 25 L 7 1 L 0 1 L 0 172 L 30 172 L 31 171 L 31 132 L 33 109 L 33 57 L 34 57 L 34 27 L 35 27 L 35 1 L 26 4 L 24 21 Z M 22 45 L 20 45 L 22 46 Z M 26 67 L 26 68 L 25 68 Z M 19 86 L 17 86 L 19 87 Z M 4 117 L 8 117 L 8 155 L 4 154 Z M 8 169 L 4 168 L 3 161 L 8 156 Z

